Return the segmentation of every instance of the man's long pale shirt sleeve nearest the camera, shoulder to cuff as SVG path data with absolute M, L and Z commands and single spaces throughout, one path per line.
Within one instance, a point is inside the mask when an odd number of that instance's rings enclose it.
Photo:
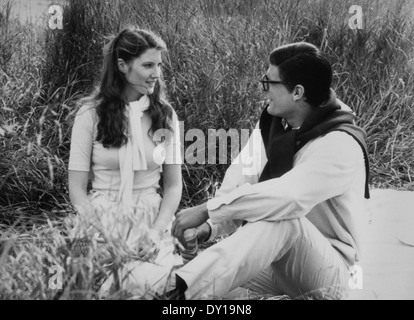
M 228 220 L 279 221 L 305 216 L 315 205 L 341 195 L 363 164 L 360 146 L 344 132 L 309 142 L 295 156 L 292 170 L 261 183 L 246 182 L 207 203 L 214 224 Z

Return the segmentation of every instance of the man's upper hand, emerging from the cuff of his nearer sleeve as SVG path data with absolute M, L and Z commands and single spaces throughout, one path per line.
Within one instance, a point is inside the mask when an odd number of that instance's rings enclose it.
M 196 228 L 206 222 L 208 219 L 207 203 L 199 205 L 194 208 L 189 208 L 180 211 L 172 225 L 171 233 L 184 246 L 187 242 L 184 239 L 184 231 L 191 228 Z

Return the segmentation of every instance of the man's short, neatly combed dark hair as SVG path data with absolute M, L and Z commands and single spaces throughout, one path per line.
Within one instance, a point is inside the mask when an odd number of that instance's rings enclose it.
M 269 56 L 270 64 L 279 68 L 282 81 L 293 91 L 300 84 L 305 88 L 306 101 L 320 106 L 329 99 L 332 83 L 332 67 L 321 51 L 307 42 L 297 42 L 274 49 Z

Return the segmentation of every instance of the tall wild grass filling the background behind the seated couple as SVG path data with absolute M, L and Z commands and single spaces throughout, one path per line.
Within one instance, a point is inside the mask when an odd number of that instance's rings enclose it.
M 364 28 L 351 30 L 348 10 L 354 2 L 70 0 L 62 3 L 63 30 L 47 29 L 46 22 L 22 25 L 10 16 L 11 2 L 1 4 L 3 238 L 19 238 L 27 230 L 30 236 L 53 233 L 61 227 L 60 218 L 72 211 L 67 162 L 76 101 L 96 83 L 107 37 L 128 24 L 149 28 L 166 41 L 169 100 L 186 131 L 197 128 L 206 136 L 208 129 L 254 127 L 263 108 L 258 79 L 273 48 L 294 41 L 320 46 L 333 64 L 334 89 L 368 133 L 371 187 L 413 190 L 414 6 L 409 1 L 358 1 Z M 186 141 L 185 148 L 190 144 Z M 226 168 L 185 164 L 181 207 L 214 195 Z M 51 226 L 43 229 L 48 221 Z M 6 250 L 10 255 L 1 256 L 0 268 L 9 277 L 2 279 L 0 296 L 58 298 L 44 287 L 44 266 L 63 261 L 56 253 L 58 242 L 46 251 L 34 245 Z M 86 260 L 87 270 L 90 263 L 98 267 L 94 259 Z M 95 297 L 89 271 L 79 272 L 86 279 L 80 286 L 89 292 L 83 297 Z M 68 276 L 76 278 L 79 272 Z M 68 292 L 65 297 L 73 296 Z

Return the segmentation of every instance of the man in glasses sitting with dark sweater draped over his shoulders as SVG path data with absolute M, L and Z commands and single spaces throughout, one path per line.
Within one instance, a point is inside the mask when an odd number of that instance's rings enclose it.
M 282 46 L 269 63 L 261 80 L 268 105 L 258 124 L 260 174 L 244 176 L 243 165 L 232 164 L 216 197 L 181 211 L 173 224 L 185 243 L 188 228 L 198 227 L 203 241 L 244 221 L 177 271 L 186 299 L 240 286 L 292 298 L 349 293 L 364 193 L 369 198 L 365 133 L 331 90 L 331 65 L 318 48 Z

